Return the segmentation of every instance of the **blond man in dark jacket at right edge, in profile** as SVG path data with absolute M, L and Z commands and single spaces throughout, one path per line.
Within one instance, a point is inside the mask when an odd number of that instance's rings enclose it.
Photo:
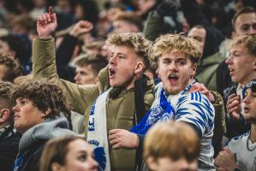
M 250 124 L 241 114 L 241 91 L 249 80 L 256 78 L 256 35 L 235 38 L 230 44 L 229 54 L 226 60 L 229 74 L 231 80 L 238 84 L 224 92 L 228 111 L 225 135 L 230 139 L 250 129 Z

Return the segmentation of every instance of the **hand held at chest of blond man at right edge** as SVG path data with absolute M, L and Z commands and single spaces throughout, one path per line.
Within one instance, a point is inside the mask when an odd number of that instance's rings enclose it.
M 226 109 L 229 113 L 229 116 L 238 121 L 241 115 L 241 97 L 240 96 L 235 96 L 234 94 L 231 94 L 228 97 Z

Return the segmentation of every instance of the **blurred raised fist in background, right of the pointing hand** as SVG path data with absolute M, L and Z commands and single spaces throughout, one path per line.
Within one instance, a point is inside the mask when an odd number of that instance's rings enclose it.
M 90 21 L 78 21 L 72 30 L 69 32 L 71 36 L 77 38 L 80 34 L 90 32 L 93 28 L 92 22 Z

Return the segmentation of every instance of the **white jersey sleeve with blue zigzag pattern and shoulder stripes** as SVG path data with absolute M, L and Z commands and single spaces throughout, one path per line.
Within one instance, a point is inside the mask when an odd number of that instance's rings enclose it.
M 214 109 L 204 94 L 188 93 L 179 98 L 175 119 L 193 124 L 196 132 L 202 137 L 205 133 L 213 131 Z

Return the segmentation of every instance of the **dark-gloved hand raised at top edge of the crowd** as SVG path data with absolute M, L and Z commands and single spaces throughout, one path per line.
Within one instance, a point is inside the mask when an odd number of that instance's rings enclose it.
M 156 9 L 158 15 L 168 16 L 174 15 L 178 9 L 176 0 L 164 0 L 160 3 Z

